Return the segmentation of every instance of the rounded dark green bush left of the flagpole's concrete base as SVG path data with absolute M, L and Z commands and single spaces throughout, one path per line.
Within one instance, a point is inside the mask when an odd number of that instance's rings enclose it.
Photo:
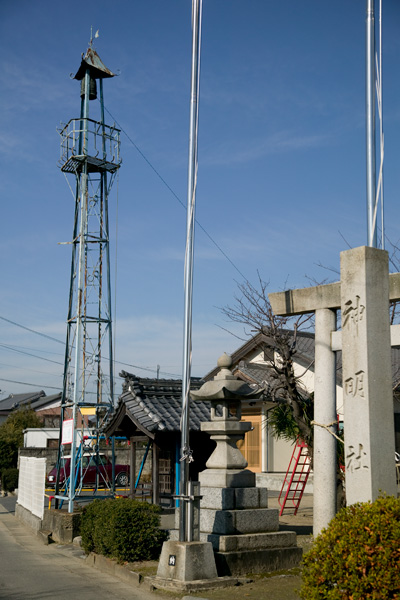
M 82 511 L 82 547 L 119 562 L 158 558 L 168 533 L 160 508 L 130 498 L 94 500 Z

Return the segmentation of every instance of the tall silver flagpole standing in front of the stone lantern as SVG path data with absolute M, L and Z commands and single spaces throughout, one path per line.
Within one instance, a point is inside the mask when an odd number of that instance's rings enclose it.
M 189 463 L 189 394 L 192 358 L 192 294 L 193 294 L 193 251 L 195 198 L 197 178 L 197 134 L 199 119 L 199 75 L 200 75 L 200 42 L 201 42 L 202 0 L 192 0 L 192 76 L 190 92 L 190 125 L 189 125 L 189 168 L 187 199 L 187 234 L 185 255 L 185 312 L 184 340 L 182 364 L 182 418 L 181 418 L 181 485 L 180 495 L 188 496 Z M 186 501 L 180 502 L 179 540 L 190 539 L 187 536 Z

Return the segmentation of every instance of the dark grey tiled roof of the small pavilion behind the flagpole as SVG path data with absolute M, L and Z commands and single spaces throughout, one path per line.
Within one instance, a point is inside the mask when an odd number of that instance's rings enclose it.
M 115 413 L 108 421 L 106 430 L 112 430 L 124 412 L 142 430 L 179 431 L 182 405 L 182 381 L 180 379 L 140 378 L 126 371 L 122 394 Z M 193 378 L 191 389 L 199 389 L 203 381 Z M 191 402 L 190 429 L 199 430 L 200 423 L 210 420 L 210 405 L 207 402 Z

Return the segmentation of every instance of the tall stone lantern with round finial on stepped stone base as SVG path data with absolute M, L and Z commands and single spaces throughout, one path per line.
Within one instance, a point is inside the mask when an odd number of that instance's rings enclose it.
M 279 531 L 277 509 L 268 508 L 268 490 L 256 486 L 255 473 L 236 442 L 251 423 L 241 421 L 242 402 L 258 400 L 255 390 L 236 379 L 232 359 L 223 354 L 212 381 L 191 393 L 211 402 L 211 421 L 201 424 L 217 446 L 200 473 L 200 540 L 211 542 L 219 576 L 275 571 L 297 566 L 301 548 L 294 532 Z

